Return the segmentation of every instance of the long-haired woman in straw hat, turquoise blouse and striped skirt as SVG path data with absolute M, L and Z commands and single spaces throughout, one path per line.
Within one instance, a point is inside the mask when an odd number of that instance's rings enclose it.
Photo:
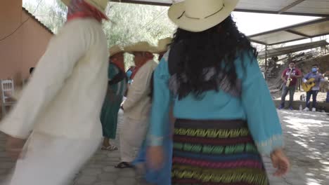
M 155 69 L 148 158 L 151 167 L 162 167 L 174 104 L 172 184 L 268 184 L 260 153 L 271 155 L 276 176 L 288 172 L 256 49 L 231 18 L 237 4 L 186 0 L 169 8 L 179 28 Z

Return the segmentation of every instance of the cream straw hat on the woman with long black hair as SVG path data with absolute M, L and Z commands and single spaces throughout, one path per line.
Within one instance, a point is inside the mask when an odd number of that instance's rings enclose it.
M 238 2 L 239 0 L 185 0 L 170 6 L 168 16 L 181 29 L 202 32 L 225 20 Z

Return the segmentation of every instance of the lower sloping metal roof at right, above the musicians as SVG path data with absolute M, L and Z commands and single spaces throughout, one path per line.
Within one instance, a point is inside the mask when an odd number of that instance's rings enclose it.
M 329 18 L 320 18 L 248 37 L 255 43 L 276 45 L 327 34 L 329 34 Z

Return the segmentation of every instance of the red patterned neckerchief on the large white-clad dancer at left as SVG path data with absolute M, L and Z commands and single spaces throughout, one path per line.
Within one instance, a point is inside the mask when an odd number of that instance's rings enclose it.
M 67 21 L 75 18 L 95 18 L 98 22 L 108 19 L 101 11 L 87 4 L 84 0 L 71 0 L 67 11 Z

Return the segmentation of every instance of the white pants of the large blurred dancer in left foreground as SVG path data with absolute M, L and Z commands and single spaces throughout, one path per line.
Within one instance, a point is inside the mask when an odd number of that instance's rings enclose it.
M 98 149 L 101 137 L 71 139 L 32 133 L 22 158 L 6 185 L 71 184 L 75 174 Z M 24 152 L 26 151 L 26 152 Z

